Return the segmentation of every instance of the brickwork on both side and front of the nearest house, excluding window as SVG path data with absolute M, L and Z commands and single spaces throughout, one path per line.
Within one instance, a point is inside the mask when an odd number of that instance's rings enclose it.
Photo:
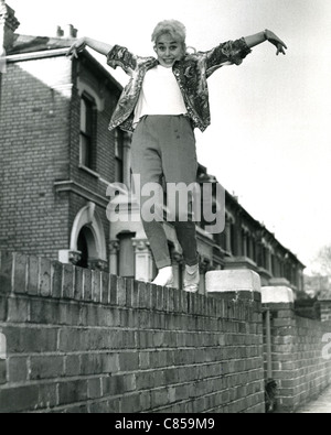
M 93 198 L 55 194 L 54 183 L 73 181 L 98 197 L 106 240 L 106 184 L 79 168 L 78 77 L 105 99 L 96 126 L 96 171 L 115 180 L 114 132 L 108 122 L 119 89 L 87 59 L 65 56 L 8 63 L 1 76 L 0 105 L 0 249 L 56 260 L 70 248 L 73 221 Z

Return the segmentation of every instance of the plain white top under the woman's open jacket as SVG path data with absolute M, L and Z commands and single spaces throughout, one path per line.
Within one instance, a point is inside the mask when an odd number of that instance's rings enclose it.
M 188 109 L 172 68 L 157 65 L 146 73 L 134 126 L 145 115 L 184 115 Z

